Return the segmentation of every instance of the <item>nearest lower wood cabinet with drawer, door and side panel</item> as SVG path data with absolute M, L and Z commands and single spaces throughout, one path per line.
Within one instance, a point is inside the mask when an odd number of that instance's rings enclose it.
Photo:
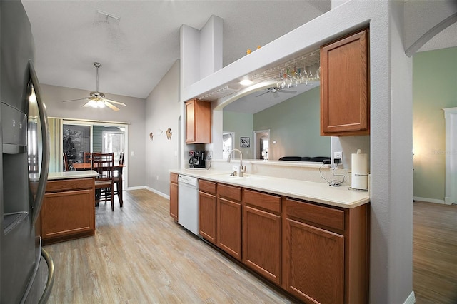
M 368 204 L 282 203 L 283 287 L 307 303 L 368 303 Z

